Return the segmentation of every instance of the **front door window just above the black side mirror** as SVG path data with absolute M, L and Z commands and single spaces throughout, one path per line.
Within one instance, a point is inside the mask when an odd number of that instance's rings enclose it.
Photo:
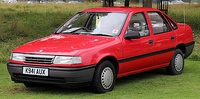
M 134 14 L 129 22 L 128 31 L 139 32 L 140 36 L 148 36 L 149 28 L 143 13 Z

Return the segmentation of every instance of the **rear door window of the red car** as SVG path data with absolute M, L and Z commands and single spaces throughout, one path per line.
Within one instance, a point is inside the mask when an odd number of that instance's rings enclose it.
M 171 31 L 169 24 L 159 12 L 148 12 L 148 15 L 151 19 L 154 34 Z

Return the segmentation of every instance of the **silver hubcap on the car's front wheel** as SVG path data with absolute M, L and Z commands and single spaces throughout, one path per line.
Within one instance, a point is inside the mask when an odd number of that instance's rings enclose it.
M 104 89 L 109 89 L 113 84 L 113 71 L 110 67 L 103 69 L 101 73 L 101 84 Z

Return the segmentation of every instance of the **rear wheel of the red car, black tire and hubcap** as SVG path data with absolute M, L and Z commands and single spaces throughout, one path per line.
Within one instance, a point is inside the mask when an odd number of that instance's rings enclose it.
M 183 52 L 180 49 L 176 49 L 172 60 L 167 68 L 170 75 L 182 74 L 184 69 L 184 57 Z

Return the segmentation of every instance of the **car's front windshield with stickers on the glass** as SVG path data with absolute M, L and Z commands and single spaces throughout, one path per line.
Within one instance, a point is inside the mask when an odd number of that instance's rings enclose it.
M 126 16 L 125 13 L 78 13 L 61 26 L 57 33 L 117 36 Z

